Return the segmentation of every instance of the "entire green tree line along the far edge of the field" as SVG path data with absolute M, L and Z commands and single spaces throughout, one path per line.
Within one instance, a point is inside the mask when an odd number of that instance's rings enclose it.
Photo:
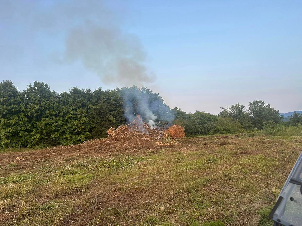
M 129 99 L 128 95 L 127 102 L 124 101 L 123 95 L 133 91 L 146 97 L 156 121 L 162 125 L 180 124 L 188 135 L 242 133 L 282 123 L 279 111 L 261 100 L 249 103 L 247 109 L 237 103 L 213 115 L 170 109 L 159 93 L 144 87 L 94 91 L 73 87 L 69 93 L 56 93 L 43 82 L 35 81 L 19 91 L 11 81 L 3 81 L 0 83 L 0 147 L 70 145 L 106 137 L 108 128 L 127 123 L 125 105 L 130 103 L 132 112 L 140 113 L 139 96 L 132 95 Z M 300 114 L 293 118 L 289 123 L 302 121 Z

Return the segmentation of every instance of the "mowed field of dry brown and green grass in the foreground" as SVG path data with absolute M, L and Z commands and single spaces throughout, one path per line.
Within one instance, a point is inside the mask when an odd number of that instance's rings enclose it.
M 272 225 L 302 150 L 299 136 L 162 142 L 2 151 L 0 225 Z

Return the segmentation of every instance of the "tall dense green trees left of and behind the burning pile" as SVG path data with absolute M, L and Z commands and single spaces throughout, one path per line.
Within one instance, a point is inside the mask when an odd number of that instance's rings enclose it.
M 141 113 L 136 104 L 144 96 L 157 121 L 167 124 L 174 118 L 159 94 L 146 88 L 92 92 L 73 87 L 59 94 L 43 82 L 35 81 L 20 92 L 11 81 L 4 81 L 0 83 L 0 147 L 69 145 L 106 137 L 108 128 L 126 123 L 125 93 L 137 93 L 129 101 L 133 114 Z

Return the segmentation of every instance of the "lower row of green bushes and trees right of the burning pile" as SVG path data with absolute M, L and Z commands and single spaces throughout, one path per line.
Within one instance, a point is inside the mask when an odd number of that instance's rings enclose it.
M 200 111 L 186 113 L 179 108 L 173 108 L 173 111 L 176 113 L 174 122 L 185 127 L 185 132 L 190 135 L 243 133 L 283 123 L 283 115 L 262 100 L 250 102 L 247 109 L 239 103 L 221 108 L 218 115 Z

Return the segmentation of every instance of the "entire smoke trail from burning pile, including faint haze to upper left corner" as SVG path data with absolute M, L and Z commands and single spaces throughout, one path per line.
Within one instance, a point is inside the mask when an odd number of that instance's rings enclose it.
M 111 11 L 108 8 L 111 3 L 101 0 L 17 2 L 8 1 L 5 9 L 0 9 L 1 16 L 11 23 L 8 27 L 25 21 L 25 29 L 31 31 L 25 40 L 47 37 L 45 48 L 51 49 L 49 58 L 45 57 L 47 63 L 70 68 L 82 64 L 104 84 L 121 87 L 149 86 L 155 82 L 156 76 L 148 70 L 140 39 L 121 29 L 123 15 L 116 12 L 118 7 Z M 89 79 L 89 73 L 82 76 Z M 129 89 L 123 95 L 128 121 L 137 113 L 150 126 L 158 118 L 164 118 L 158 112 L 167 106 L 149 100 L 146 93 Z

